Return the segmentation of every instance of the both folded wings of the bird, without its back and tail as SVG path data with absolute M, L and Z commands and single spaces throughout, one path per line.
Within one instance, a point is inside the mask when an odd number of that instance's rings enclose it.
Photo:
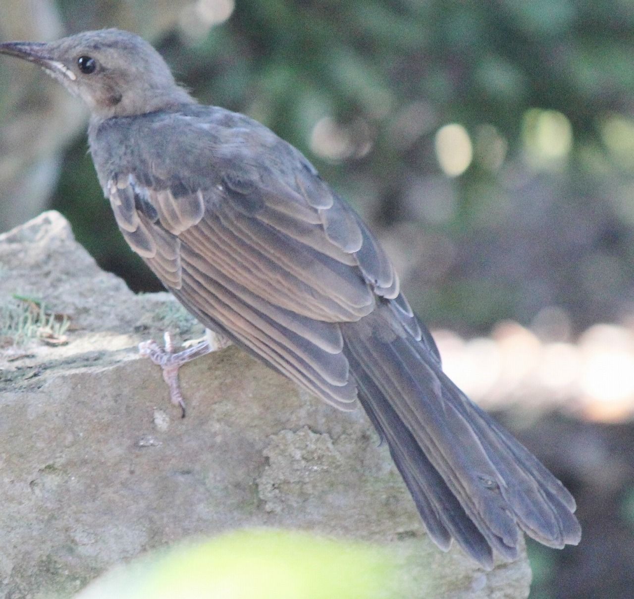
M 124 172 L 107 190 L 129 245 L 202 323 L 351 409 L 356 383 L 339 323 L 384 297 L 421 332 L 373 236 L 301 155 L 290 158 L 290 181 L 243 159 L 223 161 L 206 188 Z

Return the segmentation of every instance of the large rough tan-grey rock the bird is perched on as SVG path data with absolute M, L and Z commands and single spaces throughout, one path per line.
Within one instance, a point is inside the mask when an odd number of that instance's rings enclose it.
M 17 317 L 37 317 L 15 294 L 67 330 L 23 335 Z M 484 572 L 437 550 L 361 410 L 230 347 L 183 368 L 180 418 L 136 345 L 202 328 L 169 294 L 101 271 L 60 214 L 0 236 L 0 307 L 0 598 L 68 596 L 152 548 L 262 525 L 391 546 L 411 597 L 527 596 L 525 555 Z

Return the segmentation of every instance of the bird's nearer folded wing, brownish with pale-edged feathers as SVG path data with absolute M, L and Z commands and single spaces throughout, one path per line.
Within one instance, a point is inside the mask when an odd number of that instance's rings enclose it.
M 328 241 L 318 209 L 306 204 L 306 218 L 293 222 L 226 188 L 177 196 L 132 174 L 109 190 L 126 240 L 186 307 L 310 392 L 351 409 L 356 382 L 338 323 L 369 313 L 374 300 L 354 256 Z M 285 256 L 289 245 L 295 255 Z

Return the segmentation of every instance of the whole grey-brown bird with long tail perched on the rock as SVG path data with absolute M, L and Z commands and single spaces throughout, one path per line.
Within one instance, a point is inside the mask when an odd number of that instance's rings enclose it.
M 384 250 L 293 146 L 244 115 L 201 106 L 159 53 L 116 30 L 0 53 L 36 63 L 91 110 L 90 151 L 127 242 L 215 337 L 333 406 L 357 400 L 387 442 L 429 535 L 483 567 L 517 557 L 520 529 L 576 544 L 574 499 L 451 382 Z

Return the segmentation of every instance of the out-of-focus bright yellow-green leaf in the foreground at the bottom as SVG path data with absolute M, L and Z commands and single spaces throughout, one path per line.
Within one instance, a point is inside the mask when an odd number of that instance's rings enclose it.
M 77 599 L 398 599 L 376 547 L 301 532 L 241 531 L 112 570 Z

